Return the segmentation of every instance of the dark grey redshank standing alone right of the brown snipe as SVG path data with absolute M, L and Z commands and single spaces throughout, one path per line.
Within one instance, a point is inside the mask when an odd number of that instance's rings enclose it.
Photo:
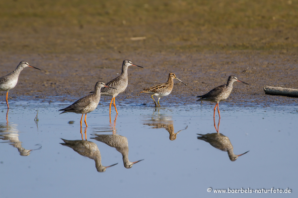
M 229 79 L 228 79 L 228 82 L 227 82 L 226 85 L 220 85 L 218 87 L 215 87 L 211 91 L 209 91 L 207 94 L 204 94 L 202 96 L 197 96 L 197 98 L 201 98 L 201 99 L 198 99 L 197 101 L 206 100 L 206 101 L 209 101 L 209 102 L 216 102 L 216 105 L 214 107 L 213 118 L 215 117 L 216 106 L 217 106 L 218 115 L 219 115 L 219 118 L 220 118 L 221 115 L 219 113 L 218 103 L 229 97 L 229 95 L 231 94 L 232 89 L 233 89 L 233 83 L 236 82 L 236 81 L 244 83 L 243 81 L 238 80 L 238 78 L 236 76 L 233 76 L 233 75 L 229 76 Z M 245 83 L 245 84 L 247 84 L 247 83 Z

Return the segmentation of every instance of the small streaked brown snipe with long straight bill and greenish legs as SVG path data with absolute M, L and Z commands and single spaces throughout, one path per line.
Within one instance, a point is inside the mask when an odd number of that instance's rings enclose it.
M 174 73 L 169 73 L 169 79 L 167 80 L 166 83 L 160 84 L 160 85 L 156 85 L 150 88 L 143 88 L 144 91 L 141 91 L 139 93 L 146 93 L 146 94 L 152 94 L 151 98 L 153 99 L 155 106 L 157 106 L 153 96 L 157 96 L 158 100 L 157 103 L 159 104 L 159 99 L 163 96 L 167 96 L 169 95 L 172 90 L 173 90 L 173 85 L 174 85 L 174 78 L 176 78 L 177 80 L 179 80 L 176 75 Z M 181 83 L 183 83 L 181 80 L 179 80 Z M 187 85 L 185 83 L 183 83 L 184 85 Z

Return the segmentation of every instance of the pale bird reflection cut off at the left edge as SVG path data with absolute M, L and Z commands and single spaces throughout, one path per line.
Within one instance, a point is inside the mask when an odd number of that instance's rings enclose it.
M 23 142 L 21 142 L 18 139 L 18 136 L 19 136 L 18 129 L 17 129 L 18 125 L 8 122 L 8 111 L 9 111 L 9 109 L 7 109 L 7 113 L 6 113 L 6 124 L 0 123 L 0 139 L 8 140 L 5 142 L 7 142 L 10 145 L 12 145 L 13 147 L 17 148 L 18 152 L 20 153 L 21 156 L 28 156 L 28 155 L 30 155 L 31 151 L 41 149 L 40 144 L 35 145 L 35 146 L 39 146 L 39 148 L 36 148 L 36 149 L 28 150 L 28 149 L 24 149 L 22 147 Z M 1 142 L 1 143 L 5 143 L 5 142 Z

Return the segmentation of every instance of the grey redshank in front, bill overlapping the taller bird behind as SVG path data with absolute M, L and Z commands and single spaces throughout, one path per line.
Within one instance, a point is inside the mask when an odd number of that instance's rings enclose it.
M 100 101 L 100 89 L 102 87 L 111 88 L 110 86 L 105 85 L 105 83 L 99 81 L 95 84 L 94 93 L 89 94 L 88 96 L 85 96 L 85 97 L 77 100 L 72 105 L 70 105 L 64 109 L 60 109 L 59 111 L 63 111 L 62 113 L 67 113 L 67 112 L 82 113 L 82 118 L 80 121 L 81 127 L 82 127 L 83 115 L 85 113 L 84 122 L 86 124 L 86 127 L 88 127 L 87 122 L 86 122 L 87 113 L 96 109 L 96 107 Z M 115 89 L 115 88 L 113 88 L 113 89 Z

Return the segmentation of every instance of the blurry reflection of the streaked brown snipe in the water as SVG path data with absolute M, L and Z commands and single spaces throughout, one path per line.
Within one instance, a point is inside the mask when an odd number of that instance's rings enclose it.
M 154 115 L 156 111 L 158 111 L 158 114 Z M 166 129 L 170 134 L 170 136 L 169 136 L 170 140 L 176 140 L 179 132 L 187 129 L 187 127 L 188 127 L 188 126 L 186 126 L 185 129 L 181 129 L 180 131 L 175 133 L 172 117 L 169 115 L 159 114 L 159 108 L 155 108 L 155 111 L 153 112 L 151 119 L 146 120 L 145 122 L 148 122 L 148 123 L 144 123 L 144 125 L 153 126 L 152 129 L 159 129 L 159 128 Z

